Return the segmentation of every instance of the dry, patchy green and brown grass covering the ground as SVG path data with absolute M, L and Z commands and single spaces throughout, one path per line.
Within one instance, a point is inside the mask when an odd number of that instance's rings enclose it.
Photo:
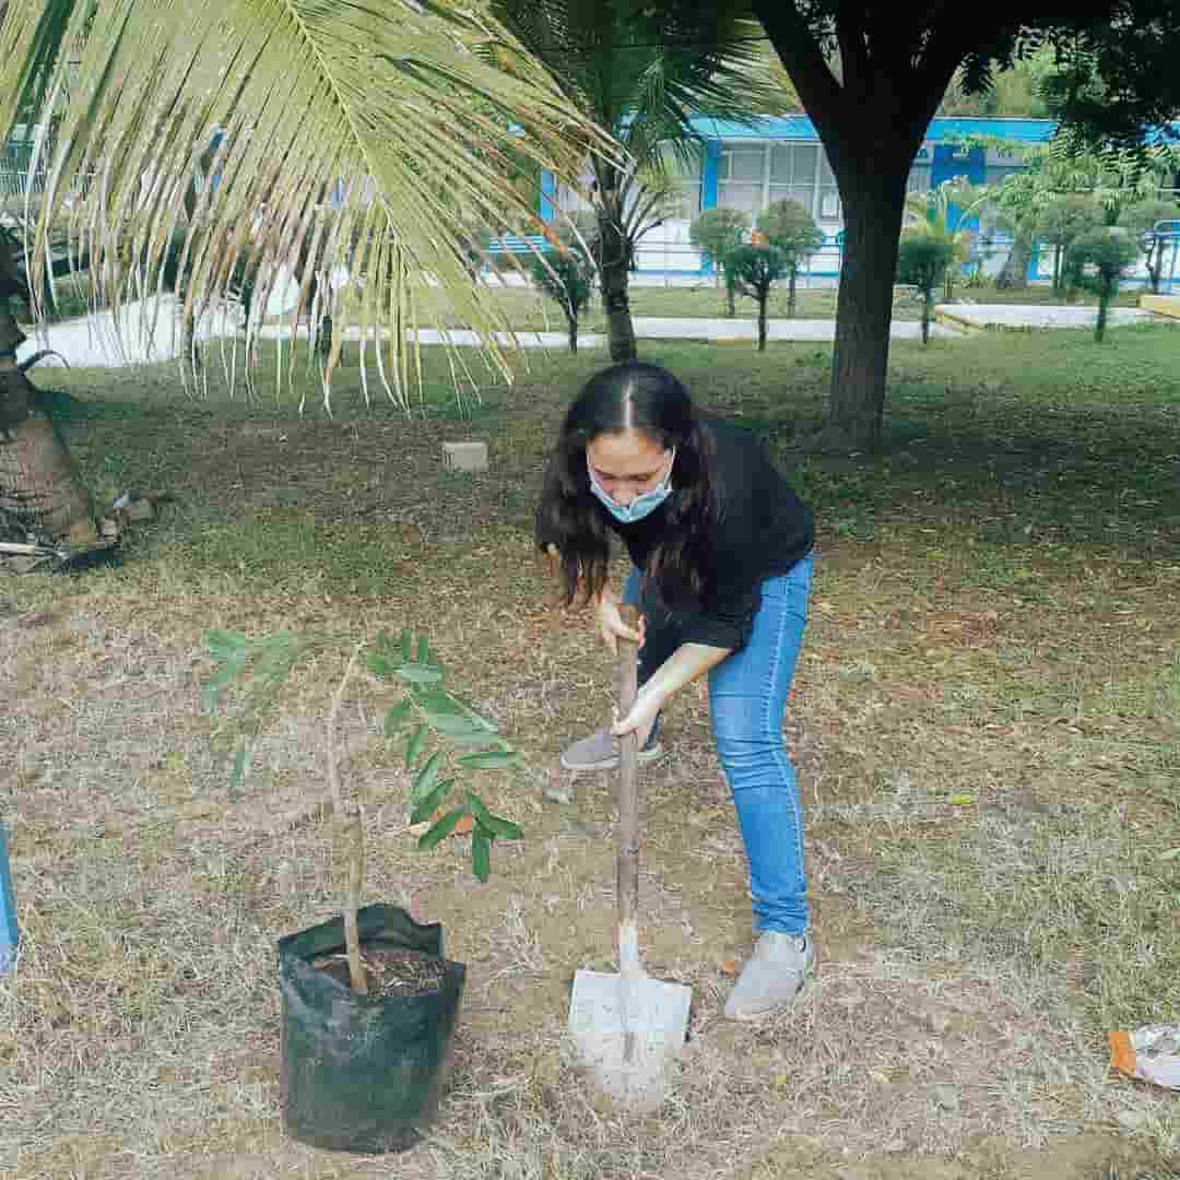
M 64 379 L 92 484 L 178 499 L 122 568 L 0 586 L 24 936 L 0 984 L 0 1175 L 1174 1180 L 1175 1100 L 1112 1076 L 1103 1037 L 1180 1010 L 1180 866 L 1160 858 L 1180 845 L 1180 511 L 1158 473 L 1180 356 L 1160 333 L 1116 341 L 1139 378 L 1109 412 L 1087 393 L 1106 354 L 1067 372 L 1082 341 L 900 349 L 893 451 L 852 463 L 787 450 L 822 380 L 812 353 L 727 352 L 719 374 L 715 350 L 667 352 L 774 434 L 820 509 L 789 733 L 821 965 L 789 1016 L 719 1020 L 719 964 L 750 942 L 747 881 L 703 695 L 686 694 L 644 778 L 644 950 L 694 990 L 657 1117 L 612 1110 L 563 1057 L 573 971 L 611 962 L 607 778 L 555 806 L 489 775 L 527 839 L 497 846 L 480 886 L 463 841 L 414 851 L 404 776 L 353 695 L 340 728 L 368 800 L 367 893 L 442 920 L 470 969 L 441 1119 L 396 1160 L 278 1127 L 275 940 L 345 887 L 326 826 L 303 819 L 326 791 L 321 722 L 347 638 L 404 623 L 538 767 L 603 716 L 609 663 L 585 617 L 549 604 L 527 536 L 544 440 L 594 361 L 538 362 L 464 424 L 300 422 L 177 401 L 166 374 Z M 1021 349 L 1038 407 L 1011 375 Z M 1037 412 L 1025 450 L 1053 473 L 1014 460 L 997 484 Z M 441 472 L 457 433 L 489 441 L 490 474 Z M 1079 503 L 1113 503 L 1126 526 L 1075 520 Z M 343 638 L 293 678 L 241 798 L 198 708 L 199 638 L 218 625 Z

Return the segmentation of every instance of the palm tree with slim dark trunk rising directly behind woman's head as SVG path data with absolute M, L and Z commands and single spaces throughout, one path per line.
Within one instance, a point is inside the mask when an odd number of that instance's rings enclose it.
M 749 123 L 792 104 L 773 81 L 761 30 L 745 4 L 645 0 L 491 0 L 491 8 L 558 79 L 568 103 L 630 155 L 591 159 L 598 276 L 611 360 L 636 355 L 628 280 L 632 211 L 653 178 L 675 179 L 699 150 L 699 116 Z M 511 68 L 511 64 L 510 64 Z

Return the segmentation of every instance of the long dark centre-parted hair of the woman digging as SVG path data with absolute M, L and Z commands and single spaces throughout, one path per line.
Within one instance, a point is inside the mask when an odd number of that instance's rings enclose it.
M 634 430 L 676 448 L 674 493 L 658 543 L 643 571 L 670 608 L 703 605 L 714 581 L 717 523 L 715 451 L 688 391 L 658 365 L 627 361 L 603 369 L 582 387 L 562 422 L 545 470 L 537 509 L 537 544 L 557 550 L 565 601 L 578 590 L 597 595 L 607 582 L 611 527 L 590 491 L 586 445 L 601 434 Z

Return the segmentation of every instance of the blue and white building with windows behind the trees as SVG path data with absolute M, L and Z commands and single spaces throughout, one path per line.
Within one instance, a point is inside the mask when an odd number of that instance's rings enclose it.
M 1024 166 L 1020 152 L 970 146 L 972 138 L 1031 146 L 1045 143 L 1056 126 L 1050 119 L 936 118 L 910 171 L 910 191 L 929 192 L 957 177 L 974 184 L 996 184 Z M 712 273 L 689 242 L 689 225 L 701 210 L 726 205 L 745 210 L 753 222 L 767 205 L 789 197 L 811 210 L 825 236 L 824 248 L 811 260 L 807 277 L 833 281 L 840 273 L 843 257 L 844 211 L 835 176 L 812 120 L 792 114 L 747 126 L 699 119 L 695 127 L 704 144 L 702 159 L 683 177 L 677 216 L 650 230 L 640 243 L 635 278 L 699 282 Z M 1180 183 L 1180 178 L 1175 179 Z M 546 221 L 556 216 L 556 209 L 572 212 L 582 206 L 573 192 L 556 186 L 548 173 L 543 191 L 546 196 L 540 212 Z M 995 273 L 1003 266 L 1010 238 L 986 223 L 979 229 L 983 240 L 990 243 L 982 253 L 982 266 Z M 1029 277 L 1049 278 L 1051 274 L 1051 255 L 1034 251 Z

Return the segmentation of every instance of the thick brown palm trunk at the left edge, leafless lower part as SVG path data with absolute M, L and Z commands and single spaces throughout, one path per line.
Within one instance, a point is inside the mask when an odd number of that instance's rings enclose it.
M 25 336 L 0 299 L 0 524 L 54 542 L 100 543 L 94 511 L 61 435 L 17 367 Z

